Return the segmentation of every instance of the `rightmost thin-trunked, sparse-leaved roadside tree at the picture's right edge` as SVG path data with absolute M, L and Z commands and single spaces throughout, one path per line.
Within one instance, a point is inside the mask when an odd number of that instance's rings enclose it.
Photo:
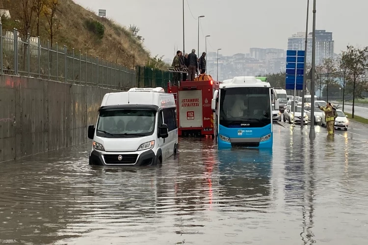
M 355 48 L 353 46 L 347 46 L 346 51 L 342 51 L 342 60 L 345 62 L 347 73 L 350 76 L 353 87 L 353 111 L 352 118 L 354 118 L 354 105 L 356 89 L 359 83 L 359 78 L 366 73 L 367 69 L 367 53 L 368 47 L 364 49 Z

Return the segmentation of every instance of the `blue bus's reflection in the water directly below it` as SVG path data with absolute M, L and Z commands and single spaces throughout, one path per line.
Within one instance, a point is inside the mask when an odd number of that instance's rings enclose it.
M 272 150 L 219 150 L 218 159 L 220 195 L 232 198 L 237 211 L 263 212 L 271 199 Z

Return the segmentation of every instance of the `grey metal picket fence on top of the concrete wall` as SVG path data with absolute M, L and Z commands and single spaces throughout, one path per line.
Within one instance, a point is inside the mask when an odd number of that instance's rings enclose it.
M 22 40 L 17 29 L 2 32 L 1 74 L 39 77 L 72 84 L 126 90 L 136 87 L 135 71 L 81 51 L 60 47 L 39 37 Z

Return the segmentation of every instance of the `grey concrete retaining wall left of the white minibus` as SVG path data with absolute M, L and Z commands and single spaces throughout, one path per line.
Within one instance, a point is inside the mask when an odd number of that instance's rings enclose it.
M 0 75 L 0 162 L 87 142 L 110 92 L 118 91 Z

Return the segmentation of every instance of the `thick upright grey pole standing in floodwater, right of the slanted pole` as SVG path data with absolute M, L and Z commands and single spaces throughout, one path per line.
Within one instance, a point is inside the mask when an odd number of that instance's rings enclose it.
M 315 115 L 315 0 L 313 0 L 313 37 L 312 37 L 312 81 L 311 81 L 311 116 Z M 315 121 L 311 120 L 311 130 L 309 131 L 309 138 L 315 138 Z

